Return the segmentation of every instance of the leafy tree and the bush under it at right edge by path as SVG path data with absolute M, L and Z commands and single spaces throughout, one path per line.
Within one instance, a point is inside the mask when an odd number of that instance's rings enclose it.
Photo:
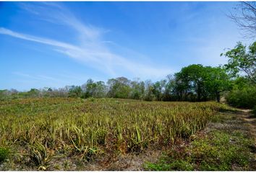
M 229 63 L 225 66 L 234 77 L 232 89 L 226 97 L 227 101 L 236 107 L 255 107 L 256 42 L 249 45 L 248 49 L 242 43 L 238 43 L 235 48 L 223 55 L 229 58 Z

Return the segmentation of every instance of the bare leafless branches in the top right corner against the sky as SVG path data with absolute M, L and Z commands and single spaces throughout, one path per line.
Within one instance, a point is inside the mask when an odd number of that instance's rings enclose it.
M 242 1 L 231 12 L 229 17 L 243 30 L 244 37 L 256 38 L 256 2 Z

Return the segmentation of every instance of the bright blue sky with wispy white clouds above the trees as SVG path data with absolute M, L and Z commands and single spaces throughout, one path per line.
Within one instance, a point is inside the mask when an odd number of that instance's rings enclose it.
M 227 17 L 238 2 L 0 2 L 0 89 L 157 81 L 227 62 L 246 43 Z

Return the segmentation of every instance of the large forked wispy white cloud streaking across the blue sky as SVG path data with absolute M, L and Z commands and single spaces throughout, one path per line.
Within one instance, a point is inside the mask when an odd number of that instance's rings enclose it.
M 103 35 L 106 34 L 108 30 L 93 25 L 85 25 L 61 4 L 47 2 L 36 2 L 36 4 L 20 3 L 20 7 L 27 12 L 37 15 L 39 19 L 55 24 L 57 22 L 57 24 L 66 25 L 72 30 L 75 30 L 77 34 L 75 36 L 77 38 L 76 44 L 64 43 L 45 37 L 25 35 L 3 27 L 0 28 L 1 34 L 51 45 L 57 52 L 63 53 L 69 56 L 69 58 L 85 63 L 87 66 L 92 66 L 113 77 L 119 76 L 124 71 L 127 71 L 131 76 L 157 79 L 174 72 L 168 68 L 157 68 L 147 65 L 146 63 L 131 61 L 128 57 L 129 55 L 121 56 L 114 53 L 108 47 L 111 41 L 103 40 Z

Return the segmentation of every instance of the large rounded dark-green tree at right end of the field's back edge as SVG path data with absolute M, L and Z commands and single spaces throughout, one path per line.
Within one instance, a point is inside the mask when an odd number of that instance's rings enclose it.
M 174 76 L 173 94 L 179 100 L 200 102 L 215 98 L 220 102 L 221 92 L 231 88 L 230 76 L 221 67 L 192 64 Z

